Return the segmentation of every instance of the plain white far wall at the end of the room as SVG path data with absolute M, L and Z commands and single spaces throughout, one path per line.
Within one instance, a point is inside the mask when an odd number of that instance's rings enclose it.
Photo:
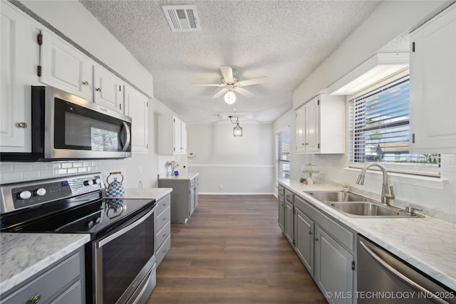
M 188 171 L 199 172 L 201 194 L 271 194 L 274 189 L 272 124 L 239 121 L 242 137 L 230 122 L 189 124 Z

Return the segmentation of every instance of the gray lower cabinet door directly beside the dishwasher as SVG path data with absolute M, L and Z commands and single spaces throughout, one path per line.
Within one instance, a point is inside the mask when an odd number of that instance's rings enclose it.
M 315 229 L 315 281 L 323 294 L 339 293 L 340 298 L 327 298 L 329 303 L 352 303 L 354 258 L 318 225 Z

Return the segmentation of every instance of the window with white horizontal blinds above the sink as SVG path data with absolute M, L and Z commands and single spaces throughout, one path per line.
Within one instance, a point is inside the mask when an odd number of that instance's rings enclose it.
M 407 76 L 351 100 L 350 167 L 381 162 L 388 171 L 440 176 L 440 154 L 410 154 Z

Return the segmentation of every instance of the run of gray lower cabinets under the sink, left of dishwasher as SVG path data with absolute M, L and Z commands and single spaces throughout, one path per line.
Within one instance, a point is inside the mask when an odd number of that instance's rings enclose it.
M 291 190 L 285 188 L 284 193 L 283 231 L 296 254 L 323 295 L 333 295 L 326 298 L 328 303 L 353 303 L 351 295 L 356 281 L 354 232 Z M 280 204 L 279 196 L 279 209 Z M 289 220 L 290 216 L 293 221 Z

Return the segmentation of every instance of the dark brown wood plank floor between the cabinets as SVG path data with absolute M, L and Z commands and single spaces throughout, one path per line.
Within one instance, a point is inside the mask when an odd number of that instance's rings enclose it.
M 147 304 L 326 303 L 277 224 L 272 195 L 200 195 Z

